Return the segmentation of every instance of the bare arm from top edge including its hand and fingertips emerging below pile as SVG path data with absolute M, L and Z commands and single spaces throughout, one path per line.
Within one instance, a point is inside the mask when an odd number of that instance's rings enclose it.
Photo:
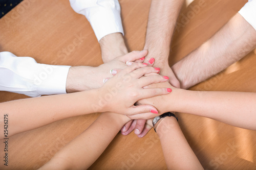
M 180 88 L 180 82 L 169 67 L 168 57 L 176 20 L 184 0 L 152 0 L 148 15 L 144 50 L 148 50 L 144 62 L 160 68 L 160 74 L 169 77 L 169 83 Z M 136 122 L 135 122 L 136 121 Z M 139 119 L 127 123 L 121 132 L 129 134 L 135 129 L 138 137 L 143 137 L 150 128 L 144 128 L 146 120 Z

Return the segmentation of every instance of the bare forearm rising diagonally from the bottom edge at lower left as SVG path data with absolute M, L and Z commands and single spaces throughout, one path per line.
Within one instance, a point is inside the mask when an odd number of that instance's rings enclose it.
M 101 114 L 82 134 L 67 144 L 41 169 L 87 169 L 102 154 L 129 118 L 115 113 Z

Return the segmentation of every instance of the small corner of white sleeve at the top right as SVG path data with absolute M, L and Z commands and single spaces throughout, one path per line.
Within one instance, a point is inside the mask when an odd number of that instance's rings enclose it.
M 249 0 L 239 13 L 256 30 L 256 0 Z

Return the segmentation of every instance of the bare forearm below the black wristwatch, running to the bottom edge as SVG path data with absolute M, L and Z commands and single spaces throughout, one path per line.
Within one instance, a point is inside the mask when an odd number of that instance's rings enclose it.
M 161 120 L 156 132 L 161 141 L 168 169 L 203 169 L 175 117 L 165 117 Z

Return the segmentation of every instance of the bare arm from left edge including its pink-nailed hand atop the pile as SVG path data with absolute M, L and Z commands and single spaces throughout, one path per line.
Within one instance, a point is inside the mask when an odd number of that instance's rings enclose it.
M 152 83 L 166 81 L 160 75 L 140 79 L 144 74 L 151 72 L 157 72 L 157 70 L 138 63 L 123 69 L 99 89 L 1 103 L 0 114 L 8 114 L 10 119 L 9 136 L 11 136 L 63 118 L 82 114 L 104 111 L 127 115 L 136 114 L 142 110 L 152 112 L 156 108 L 150 105 L 134 107 L 134 103 L 141 96 L 148 98 L 157 94 L 169 93 L 166 88 L 152 90 L 142 88 Z M 120 103 L 120 101 L 122 102 Z M 3 119 L 0 121 L 4 122 Z

